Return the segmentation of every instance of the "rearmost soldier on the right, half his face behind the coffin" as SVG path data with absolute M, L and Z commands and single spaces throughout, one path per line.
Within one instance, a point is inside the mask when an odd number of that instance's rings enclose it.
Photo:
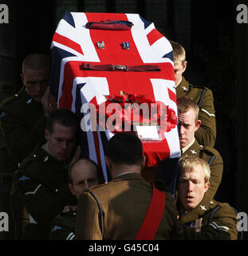
M 205 86 L 192 86 L 183 77 L 187 68 L 186 54 L 183 46 L 171 41 L 174 54 L 176 97 L 186 95 L 199 105 L 199 119 L 202 125 L 195 133 L 195 138 L 203 146 L 215 146 L 216 122 L 212 91 Z

